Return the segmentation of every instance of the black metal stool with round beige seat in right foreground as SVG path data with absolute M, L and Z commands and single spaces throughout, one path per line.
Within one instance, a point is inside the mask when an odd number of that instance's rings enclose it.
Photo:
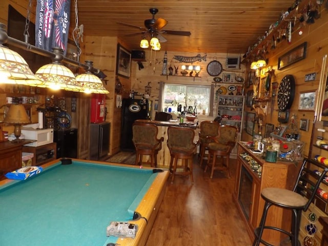
M 314 170 L 319 170 L 321 174 Z M 265 188 L 262 190 L 261 197 L 265 201 L 264 210 L 260 225 L 255 229 L 253 246 L 257 246 L 260 243 L 272 246 L 272 244 L 261 238 L 264 230 L 275 230 L 284 233 L 289 236 L 292 246 L 301 245 L 298 240 L 298 235 L 302 211 L 305 212 L 308 210 L 311 202 L 315 198 L 320 182 L 325 177 L 327 171 L 328 169 L 319 162 L 305 158 L 293 191 L 281 188 Z M 278 206 L 292 211 L 292 227 L 290 232 L 273 226 L 265 226 L 265 219 L 267 218 L 268 210 L 271 206 Z

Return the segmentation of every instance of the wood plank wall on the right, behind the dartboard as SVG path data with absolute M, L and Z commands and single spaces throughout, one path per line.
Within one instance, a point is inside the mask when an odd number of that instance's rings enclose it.
M 293 114 L 296 115 L 296 125 L 298 128 L 299 128 L 299 120 L 301 118 L 310 120 L 309 130 L 299 131 L 299 133 L 301 134 L 300 140 L 305 142 L 305 146 L 303 150 L 305 156 L 308 155 L 309 147 L 311 145 L 310 139 L 311 139 L 311 132 L 312 132 L 312 122 L 314 119 L 314 112 L 298 111 L 299 93 L 303 91 L 318 89 L 322 58 L 325 54 L 328 54 L 328 30 L 326 29 L 327 24 L 328 24 L 328 14 L 326 11 L 321 11 L 321 18 L 316 19 L 313 25 L 306 25 L 300 27 L 303 31 L 302 35 L 298 34 L 299 29 L 293 32 L 291 44 L 288 44 L 285 41 L 280 42 L 278 43 L 276 49 L 269 50 L 269 54 L 267 54 L 267 58 L 269 58 L 268 66 L 272 66 L 273 69 L 275 69 L 275 74 L 272 78 L 272 81 L 277 81 L 279 85 L 281 79 L 287 74 L 291 74 L 295 78 L 296 92 L 295 92 L 295 98 L 293 101 L 290 115 L 291 116 Z M 304 42 L 308 43 L 306 49 L 306 58 L 286 68 L 277 70 L 279 57 Z M 249 65 L 247 66 L 247 69 L 249 70 Z M 305 82 L 304 81 L 305 74 L 309 74 L 313 72 L 316 73 L 316 79 L 314 81 Z M 248 90 L 250 89 L 251 88 L 248 88 Z M 250 108 L 246 108 L 246 110 L 250 111 Z M 254 112 L 254 110 L 252 112 Z M 265 123 L 272 123 L 277 127 L 278 126 L 277 117 L 278 117 L 278 107 L 277 107 L 277 98 L 276 98 L 273 114 L 272 115 L 268 114 L 263 120 L 263 131 L 265 129 Z M 327 117 L 322 117 L 322 119 L 327 120 Z M 288 124 L 290 123 L 291 123 L 291 119 L 289 120 Z M 288 125 L 288 124 L 282 124 L 282 125 Z M 257 124 L 255 125 L 254 129 L 256 132 L 258 131 Z M 242 136 L 242 140 L 244 141 L 251 140 L 251 136 L 245 133 Z

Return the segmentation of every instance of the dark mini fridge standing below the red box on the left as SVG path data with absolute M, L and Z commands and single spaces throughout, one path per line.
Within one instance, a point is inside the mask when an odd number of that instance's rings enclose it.
M 90 160 L 101 160 L 108 155 L 110 127 L 110 122 L 91 124 Z

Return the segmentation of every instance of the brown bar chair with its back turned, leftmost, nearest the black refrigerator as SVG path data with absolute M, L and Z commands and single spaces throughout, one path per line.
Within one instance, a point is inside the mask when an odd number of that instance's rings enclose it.
M 157 138 L 158 128 L 153 124 L 134 122 L 132 125 L 132 141 L 136 150 L 135 165 L 141 165 L 142 156 L 150 155 L 151 167 L 157 167 L 157 154 L 161 150 L 163 137 Z

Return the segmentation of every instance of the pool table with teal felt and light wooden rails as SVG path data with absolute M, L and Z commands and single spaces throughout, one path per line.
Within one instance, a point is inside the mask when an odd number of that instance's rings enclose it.
M 115 163 L 60 159 L 26 180 L 0 181 L 0 245 L 144 245 L 169 176 Z M 133 220 L 135 214 L 140 218 Z M 111 221 L 138 225 L 136 237 L 107 237 Z

